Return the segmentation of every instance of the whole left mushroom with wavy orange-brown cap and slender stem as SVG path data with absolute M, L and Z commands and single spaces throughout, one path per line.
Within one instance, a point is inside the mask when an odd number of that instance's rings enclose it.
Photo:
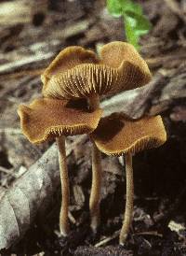
M 101 109 L 90 111 L 85 100 L 35 99 L 29 106 L 20 106 L 20 126 L 32 143 L 56 138 L 59 148 L 62 204 L 60 233 L 68 235 L 69 178 L 66 163 L 65 136 L 91 133 L 98 125 Z

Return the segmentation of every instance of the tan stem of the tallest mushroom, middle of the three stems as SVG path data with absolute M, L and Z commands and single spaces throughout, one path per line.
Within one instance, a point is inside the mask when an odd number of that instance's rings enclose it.
M 94 95 L 89 99 L 89 107 L 95 110 L 100 107 L 99 95 Z M 90 227 L 95 233 L 100 224 L 100 190 L 101 190 L 101 158 L 100 150 L 95 143 L 92 143 L 92 186 L 89 199 L 89 209 L 91 216 Z

